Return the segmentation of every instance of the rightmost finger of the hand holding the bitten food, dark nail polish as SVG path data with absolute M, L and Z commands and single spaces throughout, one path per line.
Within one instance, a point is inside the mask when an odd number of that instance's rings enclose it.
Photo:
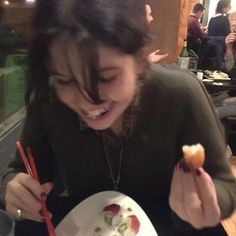
M 215 226 L 220 222 L 221 217 L 215 185 L 211 177 L 202 168 L 198 169 L 195 182 L 204 209 L 205 222 L 208 226 Z

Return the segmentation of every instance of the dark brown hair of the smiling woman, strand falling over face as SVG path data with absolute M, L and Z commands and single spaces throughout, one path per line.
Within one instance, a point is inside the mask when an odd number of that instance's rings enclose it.
M 87 92 L 99 102 L 97 44 L 136 55 L 149 40 L 144 0 L 38 0 L 33 18 L 34 38 L 26 105 L 39 104 L 49 97 L 46 61 L 52 42 L 64 33 L 78 43 Z

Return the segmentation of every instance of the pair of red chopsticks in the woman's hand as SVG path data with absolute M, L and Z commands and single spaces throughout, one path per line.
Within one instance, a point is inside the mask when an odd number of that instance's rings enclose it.
M 27 152 L 28 159 L 29 159 L 28 160 L 21 142 L 17 141 L 16 145 L 17 145 L 18 150 L 20 152 L 20 156 L 21 156 L 21 158 L 24 162 L 27 173 L 30 176 L 32 176 L 34 179 L 39 181 L 38 171 L 37 171 L 37 168 L 36 168 L 36 165 L 35 165 L 35 162 L 34 162 L 34 157 L 32 155 L 32 152 L 31 152 L 30 148 L 29 147 L 26 148 L 26 152 Z M 45 217 L 45 221 L 46 221 L 49 236 L 56 236 L 53 224 L 52 224 L 51 219 L 49 217 L 49 213 L 48 213 L 46 203 L 43 200 L 40 200 L 40 203 L 42 205 L 43 214 L 44 214 L 44 217 Z

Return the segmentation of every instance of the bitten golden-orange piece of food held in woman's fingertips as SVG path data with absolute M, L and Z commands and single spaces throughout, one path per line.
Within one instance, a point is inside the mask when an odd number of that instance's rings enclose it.
M 185 161 L 191 168 L 198 169 L 203 166 L 205 161 L 205 150 L 201 144 L 198 143 L 191 146 L 184 145 L 182 151 Z

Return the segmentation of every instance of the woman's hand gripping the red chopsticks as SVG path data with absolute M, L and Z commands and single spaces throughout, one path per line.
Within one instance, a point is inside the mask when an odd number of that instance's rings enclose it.
M 46 201 L 52 188 L 52 183 L 41 185 L 30 175 L 19 173 L 7 184 L 6 210 L 16 216 L 20 209 L 23 219 L 41 222 L 44 217 L 40 200 Z

